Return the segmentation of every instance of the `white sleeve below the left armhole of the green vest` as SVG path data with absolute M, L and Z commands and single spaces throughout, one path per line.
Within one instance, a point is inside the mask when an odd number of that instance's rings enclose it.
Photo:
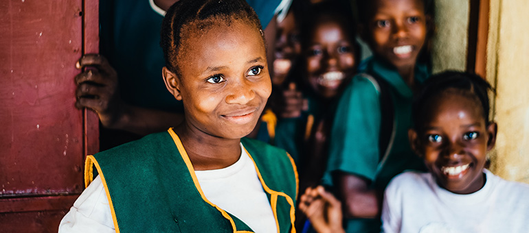
M 58 232 L 115 233 L 109 201 L 99 176 L 81 193 L 74 206 L 60 221 Z

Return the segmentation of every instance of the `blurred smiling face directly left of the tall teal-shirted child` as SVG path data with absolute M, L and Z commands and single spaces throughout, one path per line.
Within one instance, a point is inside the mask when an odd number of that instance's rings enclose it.
M 354 74 L 354 38 L 337 21 L 319 21 L 306 49 L 308 83 L 324 98 L 335 97 Z

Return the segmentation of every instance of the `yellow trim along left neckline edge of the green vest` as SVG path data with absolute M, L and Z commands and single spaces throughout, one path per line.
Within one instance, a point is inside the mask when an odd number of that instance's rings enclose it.
M 196 177 L 196 174 L 194 173 L 193 164 L 191 163 L 191 160 L 189 159 L 188 152 L 186 152 L 185 149 L 183 148 L 182 141 L 180 140 L 178 135 L 175 133 L 175 131 L 172 130 L 172 128 L 169 128 L 169 130 L 167 130 L 167 132 L 169 132 L 169 134 L 171 135 L 172 140 L 175 141 L 175 144 L 177 145 L 178 151 L 180 152 L 180 156 L 182 157 L 183 162 L 185 162 L 185 166 L 188 167 L 188 171 L 189 171 L 189 173 L 190 173 L 190 175 L 191 175 L 191 177 L 193 179 L 194 186 L 195 186 L 196 190 L 199 191 L 202 199 L 207 204 L 210 204 L 211 206 L 216 208 L 219 212 L 221 212 L 223 214 L 223 217 L 225 217 L 225 219 L 229 220 L 229 223 L 232 223 L 232 228 L 233 228 L 234 232 L 241 232 L 241 233 L 242 232 L 247 232 L 247 231 L 237 231 L 234 219 L 232 219 L 232 217 L 230 217 L 229 214 L 225 210 L 223 210 L 220 207 L 216 206 L 215 204 L 213 204 L 210 200 L 208 200 L 205 197 L 205 195 L 204 195 L 204 193 L 202 191 L 202 188 L 200 187 L 199 179 Z

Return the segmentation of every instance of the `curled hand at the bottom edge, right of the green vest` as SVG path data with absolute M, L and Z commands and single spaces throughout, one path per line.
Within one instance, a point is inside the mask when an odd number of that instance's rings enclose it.
M 300 210 L 317 232 L 345 232 L 341 226 L 341 203 L 323 186 L 307 188 L 300 200 Z

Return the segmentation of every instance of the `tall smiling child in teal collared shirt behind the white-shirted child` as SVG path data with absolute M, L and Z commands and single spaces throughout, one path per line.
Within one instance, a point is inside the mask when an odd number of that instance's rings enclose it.
M 339 100 L 327 173 L 344 204 L 346 232 L 379 232 L 382 192 L 405 169 L 424 169 L 409 147 L 412 96 L 428 77 L 417 62 L 430 16 L 425 0 L 358 1 L 374 56 Z

